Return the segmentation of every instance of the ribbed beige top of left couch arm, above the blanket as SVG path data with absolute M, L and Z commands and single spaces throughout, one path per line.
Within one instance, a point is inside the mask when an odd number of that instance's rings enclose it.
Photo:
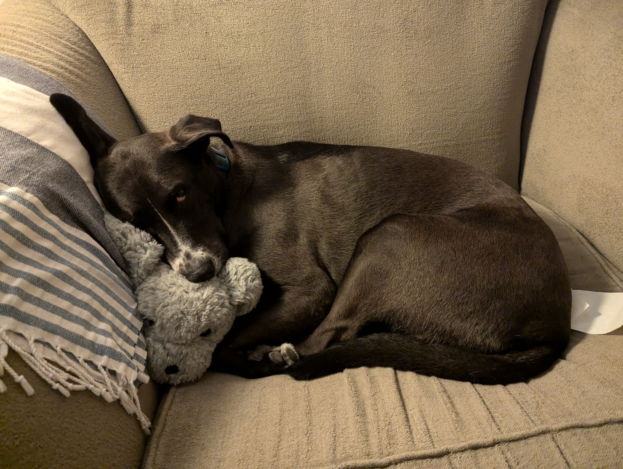
M 69 87 L 117 138 L 140 133 L 110 69 L 88 37 L 46 0 L 0 4 L 0 53 Z

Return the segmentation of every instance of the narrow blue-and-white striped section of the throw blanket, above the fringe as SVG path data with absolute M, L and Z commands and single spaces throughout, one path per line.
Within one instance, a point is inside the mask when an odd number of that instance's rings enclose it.
M 35 334 L 39 340 L 48 336 L 110 369 L 130 367 L 135 378 L 145 369 L 143 322 L 125 274 L 88 235 L 2 183 L 0 299 L 11 306 L 1 313 L 6 329 L 45 325 Z

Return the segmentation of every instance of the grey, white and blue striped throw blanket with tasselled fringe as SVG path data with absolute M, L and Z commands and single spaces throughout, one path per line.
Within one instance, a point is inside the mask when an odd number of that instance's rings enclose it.
M 0 370 L 32 394 L 6 362 L 13 349 L 62 394 L 120 400 L 148 432 L 136 394 L 148 381 L 143 322 L 87 152 L 50 105 L 54 92 L 72 95 L 0 55 Z

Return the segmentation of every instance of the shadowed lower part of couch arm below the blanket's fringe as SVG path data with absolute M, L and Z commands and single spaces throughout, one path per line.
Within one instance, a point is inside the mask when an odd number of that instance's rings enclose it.
M 118 402 L 108 404 L 89 391 L 67 398 L 50 388 L 15 352 L 7 362 L 35 390 L 27 396 L 8 374 L 0 394 L 0 468 L 138 467 L 147 437 L 138 420 Z M 158 389 L 138 388 L 141 409 L 153 421 Z

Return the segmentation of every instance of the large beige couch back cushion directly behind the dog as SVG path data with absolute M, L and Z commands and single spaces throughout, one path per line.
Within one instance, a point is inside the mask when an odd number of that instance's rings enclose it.
M 515 188 L 545 3 L 52 0 L 144 130 L 206 115 L 234 140 L 409 148 Z

